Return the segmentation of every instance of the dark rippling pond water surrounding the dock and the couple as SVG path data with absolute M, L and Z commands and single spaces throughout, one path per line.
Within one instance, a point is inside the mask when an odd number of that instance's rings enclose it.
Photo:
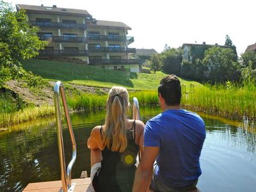
M 141 109 L 143 122 L 159 109 Z M 207 138 L 202 150 L 201 191 L 256 191 L 256 131 L 202 115 Z M 72 178 L 90 171 L 90 152 L 86 141 L 91 129 L 104 122 L 104 113 L 71 116 L 77 142 L 77 159 Z M 68 162 L 71 143 L 68 130 L 63 131 Z M 60 180 L 57 136 L 54 118 L 20 124 L 0 132 L 0 191 L 22 191 L 29 182 Z

